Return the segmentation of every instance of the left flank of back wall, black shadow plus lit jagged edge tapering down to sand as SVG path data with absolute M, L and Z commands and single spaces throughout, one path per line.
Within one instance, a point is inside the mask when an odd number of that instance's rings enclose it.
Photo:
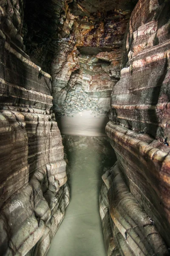
M 31 60 L 52 77 L 54 112 L 60 112 L 72 73 L 79 69 L 78 51 L 73 30 L 75 16 L 67 0 L 26 1 L 24 43 Z M 74 80 L 74 79 L 73 79 Z

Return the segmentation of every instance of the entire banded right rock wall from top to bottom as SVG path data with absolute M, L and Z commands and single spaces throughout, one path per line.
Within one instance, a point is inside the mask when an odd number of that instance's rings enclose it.
M 118 163 L 100 198 L 108 255 L 169 255 L 169 26 L 169 3 L 153 0 L 139 0 L 127 26 L 106 126 Z

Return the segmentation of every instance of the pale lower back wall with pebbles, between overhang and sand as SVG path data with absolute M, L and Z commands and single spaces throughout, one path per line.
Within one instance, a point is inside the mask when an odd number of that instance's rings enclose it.
M 119 72 L 117 78 L 111 77 L 110 62 L 92 55 L 80 54 L 79 66 L 76 81 L 74 79 L 74 85 L 71 86 L 61 107 L 62 115 L 73 115 L 85 110 L 107 113 L 110 108 L 111 91 L 118 81 Z

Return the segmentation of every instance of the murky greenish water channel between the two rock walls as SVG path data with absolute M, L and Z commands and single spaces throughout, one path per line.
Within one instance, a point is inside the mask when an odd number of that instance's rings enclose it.
M 71 201 L 47 256 L 106 256 L 99 191 L 101 176 L 115 162 L 103 137 L 65 136 Z

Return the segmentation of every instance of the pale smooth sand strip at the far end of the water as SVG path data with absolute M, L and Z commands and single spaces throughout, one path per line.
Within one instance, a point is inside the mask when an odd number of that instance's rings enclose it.
M 106 136 L 108 116 L 92 111 L 83 111 L 75 116 L 62 116 L 57 120 L 62 134 L 82 136 Z

